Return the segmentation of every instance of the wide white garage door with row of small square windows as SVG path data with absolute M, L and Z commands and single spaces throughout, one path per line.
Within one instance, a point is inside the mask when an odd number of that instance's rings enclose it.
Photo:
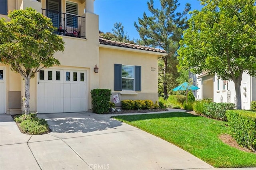
M 44 69 L 38 73 L 38 113 L 87 110 L 86 71 Z

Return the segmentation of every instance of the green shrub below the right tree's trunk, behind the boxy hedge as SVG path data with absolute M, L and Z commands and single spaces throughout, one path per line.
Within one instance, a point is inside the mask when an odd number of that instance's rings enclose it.
M 235 109 L 233 103 L 209 103 L 205 105 L 205 115 L 214 119 L 227 121 L 226 111 Z

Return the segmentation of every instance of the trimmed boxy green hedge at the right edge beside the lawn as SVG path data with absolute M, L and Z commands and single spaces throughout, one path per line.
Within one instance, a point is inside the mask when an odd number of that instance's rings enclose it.
M 226 111 L 232 137 L 239 145 L 256 150 L 256 113 L 246 110 Z

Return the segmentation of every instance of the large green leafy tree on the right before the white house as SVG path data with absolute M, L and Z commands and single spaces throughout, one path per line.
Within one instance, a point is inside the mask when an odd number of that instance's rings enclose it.
M 180 67 L 232 80 L 241 109 L 242 74 L 256 75 L 256 1 L 201 1 L 204 7 L 192 12 L 178 51 Z

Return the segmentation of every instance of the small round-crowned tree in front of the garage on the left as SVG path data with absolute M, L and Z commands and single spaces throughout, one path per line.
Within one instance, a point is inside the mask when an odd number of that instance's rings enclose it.
M 14 10 L 10 21 L 0 19 L 0 62 L 19 73 L 25 82 L 25 114 L 29 113 L 30 79 L 42 68 L 59 65 L 56 51 L 64 51 L 62 37 L 55 35 L 50 18 L 32 8 Z

